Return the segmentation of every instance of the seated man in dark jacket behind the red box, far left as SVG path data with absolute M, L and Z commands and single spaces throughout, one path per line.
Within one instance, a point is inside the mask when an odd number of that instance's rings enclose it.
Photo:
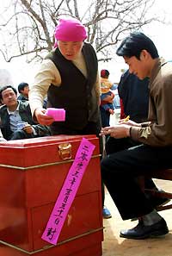
M 1 131 L 5 140 L 51 135 L 47 126 L 36 124 L 33 121 L 28 101 L 17 101 L 17 91 L 13 86 L 5 85 L 0 89 L 0 100 L 3 103 L 0 108 Z M 25 122 L 25 127 L 17 129 L 19 122 Z

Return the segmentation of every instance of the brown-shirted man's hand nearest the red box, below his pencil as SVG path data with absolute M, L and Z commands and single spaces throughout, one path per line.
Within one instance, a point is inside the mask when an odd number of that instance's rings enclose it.
M 130 137 L 131 126 L 126 124 L 115 125 L 114 127 L 101 128 L 100 136 L 110 134 L 116 139 Z

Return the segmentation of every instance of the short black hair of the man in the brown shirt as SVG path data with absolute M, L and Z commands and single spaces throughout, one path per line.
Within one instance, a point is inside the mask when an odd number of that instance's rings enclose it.
M 157 47 L 154 45 L 153 41 L 141 32 L 133 32 L 121 42 L 120 47 L 117 49 L 116 54 L 119 56 L 126 56 L 131 58 L 135 56 L 140 59 L 140 53 L 146 50 L 151 54 L 152 59 L 159 57 L 157 53 Z

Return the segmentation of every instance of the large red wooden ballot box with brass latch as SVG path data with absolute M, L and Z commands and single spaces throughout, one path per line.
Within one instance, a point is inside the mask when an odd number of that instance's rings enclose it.
M 57 246 L 41 239 L 83 136 L 0 143 L 0 256 L 101 256 L 99 140 L 71 204 Z

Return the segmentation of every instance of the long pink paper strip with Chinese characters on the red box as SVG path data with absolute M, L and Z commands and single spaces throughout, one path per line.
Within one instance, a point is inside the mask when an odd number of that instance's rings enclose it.
M 55 206 L 52 209 L 46 229 L 41 236 L 43 240 L 53 245 L 56 245 L 58 242 L 58 236 L 63 228 L 71 203 L 77 194 L 77 189 L 82 181 L 83 174 L 89 164 L 94 149 L 95 145 L 83 138 L 74 162 L 64 180 L 62 190 L 60 190 Z

